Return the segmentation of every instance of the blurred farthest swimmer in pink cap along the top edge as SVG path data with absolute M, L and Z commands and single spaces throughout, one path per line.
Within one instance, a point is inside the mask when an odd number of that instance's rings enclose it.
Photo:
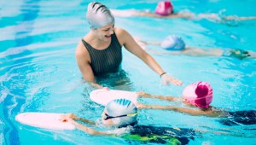
M 215 20 L 221 23 L 224 23 L 228 20 L 256 20 L 256 16 L 249 17 L 237 17 L 237 16 L 224 16 L 222 14 L 194 14 L 191 12 L 183 11 L 174 13 L 173 5 L 171 1 L 161 1 L 157 4 L 155 12 L 147 11 L 137 11 L 136 9 L 130 10 L 118 10 L 110 9 L 112 14 L 120 17 L 131 17 L 131 16 L 148 16 L 155 18 L 164 18 L 164 19 L 173 19 L 173 18 L 183 18 L 189 20 Z

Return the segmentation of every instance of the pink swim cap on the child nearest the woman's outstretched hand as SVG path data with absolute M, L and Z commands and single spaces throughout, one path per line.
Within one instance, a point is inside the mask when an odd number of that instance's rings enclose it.
M 212 97 L 212 87 L 207 82 L 189 84 L 183 90 L 183 99 L 195 107 L 209 107 Z

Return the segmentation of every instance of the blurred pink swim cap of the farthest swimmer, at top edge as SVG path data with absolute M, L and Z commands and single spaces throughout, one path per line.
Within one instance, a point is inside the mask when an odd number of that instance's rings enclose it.
M 160 15 L 169 15 L 173 13 L 173 6 L 170 1 L 165 1 L 165 2 L 159 2 L 157 3 L 156 9 L 155 9 L 156 14 Z

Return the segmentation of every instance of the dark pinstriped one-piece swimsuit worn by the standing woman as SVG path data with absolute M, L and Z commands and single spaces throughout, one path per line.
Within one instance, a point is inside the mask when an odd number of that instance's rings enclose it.
M 107 49 L 95 49 L 86 43 L 82 42 L 90 55 L 90 67 L 95 76 L 105 73 L 117 73 L 122 62 L 122 46 L 119 44 L 115 33 L 111 35 L 111 43 Z

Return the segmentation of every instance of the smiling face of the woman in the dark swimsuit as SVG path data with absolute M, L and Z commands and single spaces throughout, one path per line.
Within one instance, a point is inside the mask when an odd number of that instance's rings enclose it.
M 102 26 L 97 29 L 93 29 L 93 32 L 95 32 L 96 37 L 98 37 L 100 40 L 108 41 L 111 38 L 111 35 L 113 34 L 114 25 L 109 24 L 108 26 Z

